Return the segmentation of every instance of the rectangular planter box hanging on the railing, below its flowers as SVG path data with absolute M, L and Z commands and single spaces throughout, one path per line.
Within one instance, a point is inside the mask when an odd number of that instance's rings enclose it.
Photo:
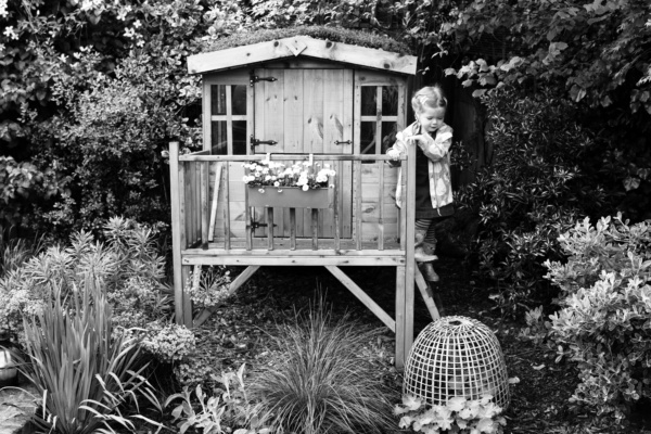
M 332 189 L 310 189 L 298 187 L 247 186 L 250 206 L 280 208 L 332 208 Z

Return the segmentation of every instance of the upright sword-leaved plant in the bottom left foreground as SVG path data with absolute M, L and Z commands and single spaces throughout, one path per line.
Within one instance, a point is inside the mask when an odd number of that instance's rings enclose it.
M 110 422 L 132 427 L 119 407 L 139 390 L 148 399 L 154 396 L 140 375 L 140 349 L 133 340 L 112 334 L 111 307 L 91 275 L 68 297 L 66 303 L 54 288 L 38 317 L 24 320 L 23 372 L 43 400 L 35 422 L 61 434 L 112 432 Z

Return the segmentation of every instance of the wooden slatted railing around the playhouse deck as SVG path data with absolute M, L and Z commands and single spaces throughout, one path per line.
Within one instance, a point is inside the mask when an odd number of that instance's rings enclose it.
M 229 163 L 246 163 L 246 162 L 259 162 L 268 157 L 265 154 L 256 154 L 256 155 L 209 155 L 207 151 L 196 152 L 192 154 L 179 155 L 178 153 L 178 144 L 170 143 L 170 169 L 171 169 L 171 189 L 173 189 L 173 225 L 181 228 L 181 233 L 179 234 L 178 242 L 182 250 L 187 248 L 208 248 L 208 243 L 213 242 L 215 221 L 216 221 L 216 212 L 217 212 L 217 193 L 222 194 L 222 202 L 225 203 L 224 209 L 224 218 L 222 224 L 224 227 L 219 228 L 218 231 L 222 234 L 222 248 L 226 251 L 230 251 L 231 248 L 245 248 L 246 251 L 251 251 L 254 248 L 266 247 L 268 251 L 273 251 L 276 248 L 277 239 L 279 237 L 275 235 L 273 230 L 267 231 L 267 240 L 266 245 L 260 245 L 259 240 L 253 239 L 253 230 L 248 227 L 251 221 L 251 208 L 245 206 L 244 208 L 244 219 L 246 221 L 246 235 L 244 240 L 244 245 L 242 245 L 242 239 L 238 238 L 238 240 L 233 240 L 231 237 L 231 218 L 230 218 L 230 187 L 229 187 Z M 271 154 L 270 158 L 272 161 L 304 161 L 307 159 L 308 156 L 305 154 Z M 333 189 L 333 201 L 335 206 L 332 209 L 332 228 L 333 234 L 330 239 L 324 240 L 323 238 L 319 238 L 318 233 L 318 221 L 319 221 L 319 209 L 311 209 L 311 220 L 310 220 L 310 237 L 311 243 L 308 248 L 314 251 L 331 251 L 334 254 L 337 254 L 342 250 L 356 250 L 356 251 L 384 251 L 386 247 L 386 222 L 385 222 L 385 205 L 387 204 L 387 200 L 385 197 L 386 188 L 385 186 L 385 176 L 386 170 L 392 170 L 388 165 L 384 164 L 384 162 L 388 161 L 390 157 L 386 155 L 341 155 L 341 154 L 317 154 L 311 155 L 314 162 L 323 162 L 330 163 L 335 167 L 335 171 L 337 171 L 337 176 L 335 176 L 335 183 Z M 408 159 L 407 156 L 403 157 L 403 162 Z M 363 200 L 363 191 L 362 191 L 362 166 L 367 163 L 378 163 L 378 195 L 376 195 L 376 222 L 373 225 L 374 235 L 376 235 L 375 242 L 368 242 L 363 239 L 363 228 L 362 228 L 362 200 Z M 343 163 L 349 163 L 352 165 L 352 184 L 344 184 L 342 181 L 342 177 L 339 176 L 340 171 L 336 170 L 336 167 L 341 167 Z M 210 180 L 209 180 L 209 165 L 214 165 L 217 169 L 215 181 L 213 182 L 210 191 Z M 339 166 L 337 166 L 339 165 Z M 408 194 L 406 192 L 407 189 L 407 164 L 403 164 L 403 194 L 405 200 L 408 199 Z M 221 176 L 224 171 L 224 176 Z M 227 182 L 224 184 L 219 183 L 219 179 L 225 178 Z M 178 186 L 178 187 L 175 187 Z M 394 187 L 392 187 L 394 188 Z M 337 197 L 343 194 L 344 189 L 348 190 L 348 194 L 350 192 L 356 191 L 357 193 L 353 195 L 354 200 L 352 206 L 354 207 L 355 219 L 352 221 L 354 228 L 352 228 L 352 233 L 354 237 L 350 240 L 346 240 L 344 243 L 340 233 L 340 220 L 342 218 L 342 208 L 339 206 Z M 393 199 L 391 200 L 393 203 Z M 247 203 L 245 199 L 245 203 Z M 268 207 L 265 210 L 267 217 L 267 224 L 273 225 L 273 208 Z M 289 239 L 289 250 L 296 250 L 296 210 L 295 208 L 290 208 L 290 231 L 289 237 L 280 237 L 286 241 Z M 408 239 L 406 237 L 407 227 L 404 225 L 407 220 L 407 207 L 404 206 L 399 210 L 399 219 L 397 228 L 391 228 L 392 233 L 397 234 L 397 239 L 400 240 L 399 248 L 401 251 L 405 250 L 405 240 Z M 175 220 L 180 221 L 175 221 Z M 393 222 L 392 222 L 393 224 Z M 307 224 L 306 224 L 307 225 Z M 306 226 L 307 227 L 307 226 Z M 272 226 L 269 226 L 272 228 Z M 368 230 L 368 228 L 367 228 Z M 234 243 L 234 241 L 237 241 Z M 302 240 L 305 241 L 305 240 Z M 286 244 L 286 243 L 285 243 Z M 395 248 L 395 243 L 391 246 L 391 248 Z M 220 246 L 221 248 L 221 246 Z M 286 245 L 285 245 L 285 248 Z M 302 248 L 306 248 L 306 244 L 302 243 Z M 324 252 L 326 253 L 326 252 Z M 327 254 L 327 253 L 326 253 Z

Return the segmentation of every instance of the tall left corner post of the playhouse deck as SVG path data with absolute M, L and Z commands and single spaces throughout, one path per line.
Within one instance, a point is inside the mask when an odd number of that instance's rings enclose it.
M 183 291 L 183 285 L 189 277 L 189 267 L 181 264 L 181 251 L 186 248 L 186 217 L 184 217 L 184 189 L 186 174 L 183 165 L 179 164 L 179 143 L 169 143 L 169 180 L 171 200 L 171 250 L 174 271 L 174 306 L 177 324 L 188 326 L 192 321 L 192 305 L 190 296 Z M 183 276 L 186 275 L 186 276 Z

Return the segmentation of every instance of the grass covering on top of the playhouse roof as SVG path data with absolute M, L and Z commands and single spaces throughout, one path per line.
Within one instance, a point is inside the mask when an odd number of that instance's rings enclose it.
M 399 54 L 412 54 L 406 43 L 399 42 L 388 36 L 375 35 L 363 30 L 326 26 L 295 26 L 288 28 L 259 29 L 233 34 L 226 38 L 206 43 L 203 52 L 225 50 L 228 48 L 250 46 L 277 39 L 291 38 L 297 35 L 309 36 L 315 39 L 330 40 L 332 42 L 349 43 L 366 48 L 391 51 Z

